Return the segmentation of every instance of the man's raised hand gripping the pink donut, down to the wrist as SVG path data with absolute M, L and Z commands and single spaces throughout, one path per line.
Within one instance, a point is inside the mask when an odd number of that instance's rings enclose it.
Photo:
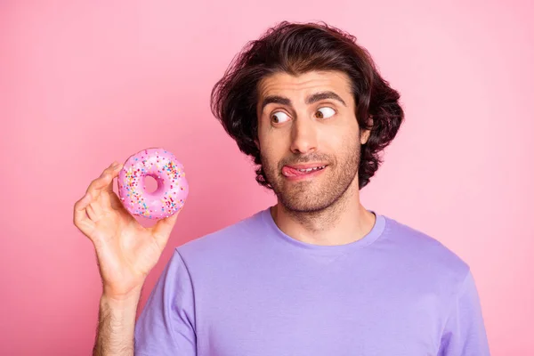
M 144 228 L 113 192 L 115 163 L 95 179 L 74 206 L 74 224 L 93 242 L 103 295 L 124 299 L 141 288 L 166 247 L 178 213 Z

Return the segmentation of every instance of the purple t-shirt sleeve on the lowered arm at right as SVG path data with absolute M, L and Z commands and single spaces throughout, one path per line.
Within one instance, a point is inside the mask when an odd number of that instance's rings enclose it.
M 481 303 L 471 271 L 452 304 L 438 355 L 490 356 Z

